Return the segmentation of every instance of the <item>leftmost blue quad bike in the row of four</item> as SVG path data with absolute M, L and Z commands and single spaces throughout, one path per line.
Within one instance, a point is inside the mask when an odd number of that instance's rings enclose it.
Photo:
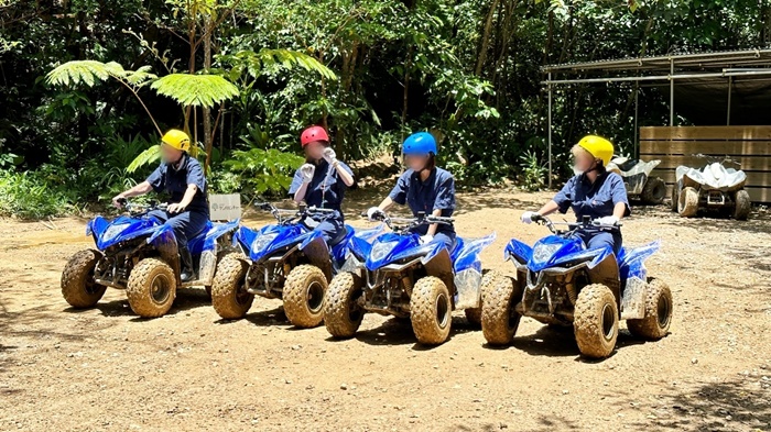
M 169 312 L 177 288 L 203 286 L 209 291 L 219 257 L 232 252 L 238 221 L 208 222 L 191 239 L 196 277 L 183 284 L 180 254 L 173 229 L 148 214 L 165 210 L 165 203 L 149 206 L 122 201 L 129 215 L 112 221 L 98 215 L 88 222 L 86 235 L 94 236 L 96 250 L 76 253 L 62 273 L 62 295 L 74 308 L 90 308 L 107 287 L 124 289 L 131 310 L 154 318 Z

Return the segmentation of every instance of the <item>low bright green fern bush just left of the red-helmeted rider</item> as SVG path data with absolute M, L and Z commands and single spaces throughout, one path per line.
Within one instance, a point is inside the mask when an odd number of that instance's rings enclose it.
M 302 165 L 304 159 L 291 153 L 283 153 L 274 148 L 250 148 L 248 151 L 235 151 L 234 158 L 222 164 L 231 175 L 240 177 L 242 193 L 249 196 L 264 195 L 265 192 L 279 193 L 289 189 L 292 184 L 293 171 Z M 235 177 L 226 177 L 230 185 L 235 184 Z M 222 191 L 234 191 L 230 190 Z

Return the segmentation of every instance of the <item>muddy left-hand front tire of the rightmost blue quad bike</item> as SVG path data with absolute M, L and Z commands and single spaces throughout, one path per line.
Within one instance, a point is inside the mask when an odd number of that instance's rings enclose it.
M 522 299 L 519 284 L 490 272 L 482 278 L 482 334 L 490 345 L 508 345 L 514 340 L 522 315 L 514 307 Z

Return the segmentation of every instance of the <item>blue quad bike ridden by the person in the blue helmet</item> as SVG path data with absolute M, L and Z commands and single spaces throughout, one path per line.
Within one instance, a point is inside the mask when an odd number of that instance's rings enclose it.
M 372 243 L 354 239 L 343 272 L 327 290 L 324 322 L 337 339 L 352 337 L 366 312 L 410 318 L 417 342 L 438 345 L 447 340 L 453 310 L 465 310 L 479 323 L 482 279 L 479 253 L 495 240 L 457 237 L 453 251 L 439 242 L 421 244 L 411 233 L 422 224 L 452 224 L 453 219 L 384 215 L 393 232 Z

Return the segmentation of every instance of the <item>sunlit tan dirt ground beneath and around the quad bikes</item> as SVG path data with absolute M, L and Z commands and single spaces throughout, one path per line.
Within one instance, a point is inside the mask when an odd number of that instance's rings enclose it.
M 513 274 L 503 246 L 545 235 L 517 220 L 549 197 L 464 192 L 458 232 L 496 231 L 485 266 Z M 360 207 L 347 213 L 376 201 L 354 192 Z M 161 319 L 138 319 L 112 289 L 74 310 L 59 277 L 91 246 L 86 220 L 0 221 L 0 430 L 771 431 L 771 213 L 634 210 L 626 244 L 662 239 L 648 264 L 672 287 L 674 322 L 649 343 L 621 324 L 602 362 L 583 361 L 572 332 L 530 319 L 512 346 L 491 348 L 456 313 L 450 340 L 425 348 L 409 324 L 373 314 L 349 341 L 296 330 L 279 300 L 258 298 L 225 322 L 198 289 Z

